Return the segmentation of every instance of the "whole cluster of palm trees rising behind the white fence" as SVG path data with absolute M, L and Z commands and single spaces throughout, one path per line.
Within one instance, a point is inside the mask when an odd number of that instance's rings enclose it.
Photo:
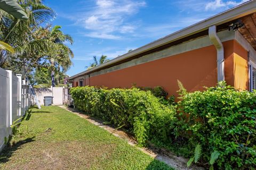
M 74 55 L 66 41 L 72 44 L 73 39 L 65 35 L 60 26 L 51 28 L 49 22 L 55 17 L 55 13 L 50 7 L 42 4 L 42 0 L 16 2 L 22 6 L 28 20 L 17 19 L 14 14 L 0 10 L 0 66 L 11 69 L 14 73 L 20 73 L 22 70 L 25 77 L 31 77 L 36 67 L 45 67 L 47 63 L 51 63 L 53 80 L 55 74 L 58 83 L 58 77 L 62 76 L 59 76 L 60 70 L 67 71 L 72 64 L 71 57 Z M 1 41 L 4 42 L 2 46 Z

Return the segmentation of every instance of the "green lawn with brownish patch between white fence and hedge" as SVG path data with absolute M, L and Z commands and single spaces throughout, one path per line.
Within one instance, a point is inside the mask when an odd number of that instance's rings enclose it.
M 33 108 L 26 119 L 0 169 L 172 169 L 60 107 Z

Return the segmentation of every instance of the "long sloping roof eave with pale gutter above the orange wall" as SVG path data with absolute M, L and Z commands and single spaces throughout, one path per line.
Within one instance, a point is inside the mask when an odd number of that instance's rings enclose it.
M 157 49 L 157 48 L 161 49 L 161 47 L 164 47 L 164 46 L 166 47 L 167 44 L 171 44 L 174 41 L 178 41 L 178 40 L 186 38 L 186 37 L 192 37 L 193 35 L 198 35 L 198 36 L 201 35 L 202 36 L 203 34 L 201 32 L 207 33 L 207 30 L 209 29 L 209 27 L 211 25 L 219 26 L 219 25 L 225 24 L 227 22 L 242 18 L 246 15 L 250 15 L 255 12 L 256 12 L 256 1 L 249 1 L 249 2 L 243 3 L 236 7 L 230 8 L 229 10 L 227 10 L 225 12 L 214 15 L 211 18 L 208 18 L 201 22 L 195 23 L 193 25 L 190 25 L 187 28 L 181 29 L 177 32 L 174 32 L 174 33 L 168 35 L 168 36 L 165 36 L 156 41 L 153 41 L 152 43 L 149 43 L 145 46 L 134 49 L 129 53 L 126 53 L 124 55 L 116 57 L 113 60 L 103 63 L 99 66 L 93 67 L 90 70 L 86 70 L 84 72 L 73 75 L 72 77 L 69 78 L 69 80 L 73 80 L 77 77 L 81 77 L 84 74 L 90 74 L 90 73 L 99 71 L 101 69 L 105 69 L 112 65 L 121 63 L 122 61 L 125 62 L 125 61 L 129 60 L 129 58 L 132 60 L 133 57 L 135 57 L 135 56 L 139 56 L 143 53 L 147 53 L 150 50 L 152 51 L 153 49 Z

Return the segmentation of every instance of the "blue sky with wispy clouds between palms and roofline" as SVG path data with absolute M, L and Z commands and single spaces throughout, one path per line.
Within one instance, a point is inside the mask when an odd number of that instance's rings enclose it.
M 127 53 L 244 0 L 45 0 L 57 12 L 53 25 L 74 38 L 68 75 L 85 70 L 94 55 L 109 59 Z

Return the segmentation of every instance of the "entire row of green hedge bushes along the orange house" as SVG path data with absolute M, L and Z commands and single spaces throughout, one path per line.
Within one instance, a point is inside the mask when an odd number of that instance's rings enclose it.
M 212 165 L 214 169 L 255 169 L 256 91 L 238 91 L 225 82 L 191 93 L 181 84 L 180 88 L 177 106 L 165 99 L 166 94 L 159 87 L 77 87 L 70 92 L 78 109 L 129 131 L 140 145 L 151 140 L 177 146 L 174 142 L 182 145 L 183 141 L 193 157 L 199 144 L 201 165 Z

